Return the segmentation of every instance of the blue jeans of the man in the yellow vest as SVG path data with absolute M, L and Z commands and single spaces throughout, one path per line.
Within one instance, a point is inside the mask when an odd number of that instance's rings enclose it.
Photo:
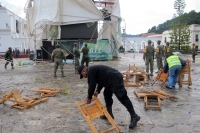
M 181 70 L 181 66 L 173 66 L 169 69 L 168 86 L 172 88 L 176 85 L 178 79 L 178 74 Z

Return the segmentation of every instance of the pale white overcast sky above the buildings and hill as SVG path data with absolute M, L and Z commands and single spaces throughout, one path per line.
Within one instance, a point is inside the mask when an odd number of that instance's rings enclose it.
M 27 0 L 0 0 L 15 14 L 25 17 L 24 6 Z M 120 0 L 122 26 L 126 25 L 127 34 L 146 33 L 149 28 L 170 20 L 173 14 L 175 0 Z M 200 0 L 185 0 L 185 12 L 195 10 L 200 12 Z

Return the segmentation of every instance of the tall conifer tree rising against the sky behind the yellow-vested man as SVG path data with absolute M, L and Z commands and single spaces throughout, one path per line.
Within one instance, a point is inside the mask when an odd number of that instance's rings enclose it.
M 184 22 L 185 15 L 185 0 L 175 0 L 174 9 L 176 9 L 178 17 L 174 15 L 174 22 L 171 23 L 171 43 L 176 46 L 179 50 L 181 49 L 181 45 L 189 44 L 190 30 L 189 26 Z

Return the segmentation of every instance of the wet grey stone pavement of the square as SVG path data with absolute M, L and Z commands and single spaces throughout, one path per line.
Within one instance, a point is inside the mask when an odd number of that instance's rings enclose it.
M 191 55 L 180 55 L 183 59 L 191 59 Z M 29 59 L 17 59 L 18 62 L 29 62 Z M 16 61 L 15 61 L 16 62 Z M 4 69 L 4 60 L 0 60 L 0 96 L 3 92 L 12 89 L 23 89 L 23 97 L 38 96 L 32 92 L 38 88 L 68 89 L 69 94 L 59 93 L 50 97 L 46 102 L 25 110 L 11 108 L 11 102 L 0 105 L 0 133 L 91 133 L 91 130 L 78 110 L 75 102 L 85 100 L 87 96 L 87 79 L 79 79 L 74 74 L 74 65 L 66 64 L 61 78 L 60 69 L 57 78 L 53 77 L 53 63 L 44 65 L 23 65 L 11 70 Z M 34 63 L 34 62 L 33 62 Z M 136 65 L 140 69 L 145 68 L 142 54 L 120 54 L 120 58 L 114 61 L 95 61 L 89 65 L 104 64 L 126 71 L 128 65 Z M 165 87 L 163 91 L 172 94 L 178 99 L 162 100 L 162 110 L 144 108 L 144 100 L 139 99 L 133 93 L 139 87 L 126 87 L 134 109 L 141 120 L 137 126 L 128 128 L 130 116 L 125 107 L 113 96 L 113 114 L 115 121 L 123 133 L 194 133 L 200 132 L 200 56 L 196 63 L 191 64 L 191 76 L 193 85 L 188 87 L 176 85 L 175 89 Z M 154 62 L 154 71 L 157 71 Z M 154 73 L 154 75 L 156 75 Z M 148 80 L 144 88 L 147 90 L 161 89 L 158 84 L 151 86 L 152 80 Z M 99 99 L 104 104 L 102 92 Z M 110 127 L 106 120 L 96 119 L 94 125 L 98 130 Z

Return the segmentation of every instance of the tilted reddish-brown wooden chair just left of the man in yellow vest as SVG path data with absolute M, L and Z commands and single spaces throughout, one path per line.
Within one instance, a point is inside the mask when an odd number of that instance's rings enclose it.
M 161 84 L 160 86 L 163 87 L 163 85 L 165 84 L 165 82 L 167 81 L 167 78 L 168 78 L 168 72 L 167 73 L 164 73 L 163 69 L 161 68 L 159 71 L 158 71 L 158 74 L 156 75 L 156 77 L 154 78 L 153 80 L 153 83 L 151 84 L 152 86 L 154 85 L 154 83 L 156 81 L 161 81 Z

